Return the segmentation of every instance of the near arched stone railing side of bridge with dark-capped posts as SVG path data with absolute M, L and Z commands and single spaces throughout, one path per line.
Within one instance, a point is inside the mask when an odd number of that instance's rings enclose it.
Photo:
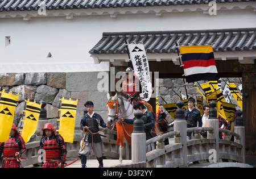
M 178 101 L 174 131 L 158 135 L 155 138 L 142 143 L 143 128 L 134 131 L 132 135 L 132 163 L 144 163 L 145 167 L 151 168 L 176 168 L 176 167 L 252 167 L 245 164 L 245 129 L 242 126 L 242 113 L 237 113 L 234 132 L 219 128 L 217 111 L 214 109 L 215 102 L 211 102 L 209 111 L 208 127 L 187 128 L 183 102 Z M 134 128 L 137 123 L 134 123 Z M 139 122 L 138 122 L 139 125 Z M 207 131 L 207 138 L 201 137 L 201 131 Z M 187 140 L 187 132 L 193 132 L 194 138 Z M 225 134 L 224 139 L 219 138 L 219 133 Z M 133 138 L 133 136 L 136 138 Z M 230 141 L 234 136 L 234 141 Z M 164 145 L 164 139 L 174 137 L 174 143 Z M 156 149 L 145 152 L 146 145 L 157 143 Z M 138 148 L 141 146 L 141 148 Z M 198 165 L 201 164 L 201 165 Z M 130 165 L 120 165 L 119 167 Z

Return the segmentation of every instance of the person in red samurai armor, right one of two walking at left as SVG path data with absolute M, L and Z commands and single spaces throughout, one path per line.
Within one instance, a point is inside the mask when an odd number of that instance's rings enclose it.
M 57 134 L 52 123 L 46 123 L 42 130 L 43 136 L 40 141 L 43 149 L 42 168 L 63 168 L 67 157 L 64 139 Z

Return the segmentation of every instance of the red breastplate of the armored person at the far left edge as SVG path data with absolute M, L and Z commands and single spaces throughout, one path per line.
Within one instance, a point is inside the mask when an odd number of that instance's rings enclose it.
M 3 144 L 3 157 L 15 157 L 15 153 L 19 152 L 19 145 L 16 144 L 15 138 L 10 138 Z

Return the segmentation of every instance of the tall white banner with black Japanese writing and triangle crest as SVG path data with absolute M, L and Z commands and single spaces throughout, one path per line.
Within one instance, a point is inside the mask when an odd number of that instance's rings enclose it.
M 129 43 L 127 45 L 130 59 L 133 63 L 134 73 L 139 77 L 139 82 L 141 83 L 142 93 L 140 94 L 140 97 L 144 101 L 148 101 L 152 94 L 152 83 L 144 45 Z

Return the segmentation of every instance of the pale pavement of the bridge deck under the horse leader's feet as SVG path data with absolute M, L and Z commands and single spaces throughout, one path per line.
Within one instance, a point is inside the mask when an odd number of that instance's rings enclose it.
M 73 160 L 66 161 L 67 164 L 71 163 Z M 123 160 L 123 164 L 130 164 L 131 160 Z M 114 165 L 119 165 L 119 160 L 114 159 L 104 159 L 103 160 L 104 167 L 110 167 Z M 98 160 L 97 159 L 87 159 L 86 163 L 87 168 L 98 168 Z M 77 160 L 75 163 L 67 166 L 67 168 L 81 168 L 81 160 Z

